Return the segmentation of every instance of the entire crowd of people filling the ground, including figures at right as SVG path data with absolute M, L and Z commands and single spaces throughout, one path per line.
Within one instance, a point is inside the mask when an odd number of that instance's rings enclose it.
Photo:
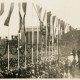
M 29 50 L 29 49 L 28 49 Z M 1 68 L 1 74 L 4 78 L 68 78 L 70 73 L 73 75 L 73 69 L 75 68 L 76 64 L 79 65 L 80 69 L 80 49 L 79 50 L 72 50 L 73 60 L 69 65 L 68 60 L 66 61 L 45 61 L 45 62 L 39 62 L 31 64 L 27 62 L 26 68 L 20 66 L 18 69 L 18 59 L 10 59 L 10 70 L 7 70 L 7 59 L 1 58 L 0 60 L 0 68 Z M 78 57 L 78 62 L 76 62 L 76 56 Z M 21 60 L 21 59 L 20 59 Z M 22 59 L 22 63 L 24 60 Z M 20 64 L 22 65 L 22 64 Z

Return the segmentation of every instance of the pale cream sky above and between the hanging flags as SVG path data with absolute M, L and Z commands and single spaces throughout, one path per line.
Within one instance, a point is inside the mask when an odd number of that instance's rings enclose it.
M 35 10 L 31 7 L 33 3 L 37 3 L 43 8 L 52 11 L 59 19 L 64 20 L 73 28 L 80 29 L 80 0 L 20 0 L 27 2 L 26 27 L 39 25 L 38 17 Z M 1 0 L 0 0 L 1 2 Z M 3 0 L 5 4 L 4 13 L 0 16 L 0 36 L 8 36 L 8 27 L 4 26 L 4 21 L 7 18 L 10 3 L 13 0 Z M 19 29 L 19 14 L 18 0 L 14 0 L 14 10 L 9 23 L 9 37 L 17 35 Z M 1 5 L 1 4 L 0 4 Z M 1 6 L 0 6 L 1 9 Z M 23 15 L 23 13 L 21 14 Z M 32 17 L 33 16 L 33 17 Z

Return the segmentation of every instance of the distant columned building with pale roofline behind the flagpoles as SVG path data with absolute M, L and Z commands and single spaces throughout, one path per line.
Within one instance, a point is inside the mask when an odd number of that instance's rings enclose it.
M 39 44 L 41 43 L 41 35 L 40 35 L 40 28 L 38 27 L 38 42 Z M 27 44 L 32 44 L 32 28 L 28 27 L 26 28 L 26 40 Z M 25 35 L 24 35 L 24 30 L 21 30 L 21 42 L 25 42 Z M 33 44 L 37 44 L 37 26 L 33 28 Z

